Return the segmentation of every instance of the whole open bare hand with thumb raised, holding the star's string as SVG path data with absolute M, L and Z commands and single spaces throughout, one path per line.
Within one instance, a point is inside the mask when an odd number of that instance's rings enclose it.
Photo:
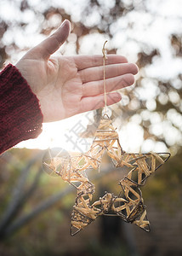
M 102 55 L 53 55 L 69 33 L 70 22 L 65 20 L 54 34 L 30 49 L 16 64 L 40 102 L 43 122 L 104 106 Z M 107 55 L 107 105 L 121 100 L 121 95 L 112 91 L 134 84 L 137 72 L 138 67 L 129 64 L 125 57 Z

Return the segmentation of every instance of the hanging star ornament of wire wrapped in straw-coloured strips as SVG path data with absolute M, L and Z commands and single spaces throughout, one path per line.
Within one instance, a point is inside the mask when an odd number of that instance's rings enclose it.
M 88 169 L 100 171 L 103 155 L 108 154 L 113 165 L 118 168 L 128 168 L 128 174 L 118 185 L 119 195 L 105 192 L 98 201 L 93 201 L 94 184 L 88 180 Z M 63 160 L 60 167 L 54 163 L 61 162 L 59 157 L 46 164 L 51 172 L 62 177 L 77 189 L 77 197 L 71 214 L 71 236 L 76 235 L 88 224 L 101 215 L 119 216 L 128 223 L 150 231 L 150 222 L 146 216 L 146 207 L 140 187 L 145 185 L 150 177 L 170 157 L 169 153 L 127 154 L 122 150 L 116 129 L 111 119 L 104 115 L 95 132 L 94 142 L 88 152 L 70 160 Z

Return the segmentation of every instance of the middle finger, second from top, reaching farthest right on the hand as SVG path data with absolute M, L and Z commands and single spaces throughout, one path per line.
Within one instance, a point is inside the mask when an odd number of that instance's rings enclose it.
M 104 67 L 89 67 L 78 72 L 82 83 L 103 79 Z M 112 64 L 105 66 L 105 79 L 121 76 L 126 73 L 138 73 L 138 67 L 133 63 Z

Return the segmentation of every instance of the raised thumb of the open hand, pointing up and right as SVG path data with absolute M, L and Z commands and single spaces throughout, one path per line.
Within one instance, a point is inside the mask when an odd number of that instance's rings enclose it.
M 34 49 L 38 52 L 37 57 L 42 57 L 43 59 L 48 59 L 50 55 L 60 48 L 62 44 L 65 43 L 65 40 L 70 33 L 70 21 L 65 20 L 61 26 L 50 35 L 48 38 L 43 40 L 42 43 L 38 44 Z

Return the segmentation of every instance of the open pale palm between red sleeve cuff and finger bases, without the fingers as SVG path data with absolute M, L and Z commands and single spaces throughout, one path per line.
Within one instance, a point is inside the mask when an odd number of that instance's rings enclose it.
M 44 122 L 65 119 L 82 112 L 82 79 L 71 57 L 37 61 L 26 55 L 16 67 L 37 95 Z M 29 70 L 28 74 L 26 70 Z

